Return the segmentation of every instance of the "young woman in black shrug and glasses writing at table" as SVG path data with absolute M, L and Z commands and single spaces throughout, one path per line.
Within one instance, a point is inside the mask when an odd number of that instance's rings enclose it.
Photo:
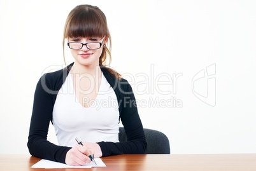
M 90 163 L 90 154 L 97 158 L 145 153 L 145 134 L 131 85 L 104 65 L 107 56 L 111 60 L 111 38 L 103 11 L 97 6 L 76 6 L 64 27 L 63 50 L 65 46 L 75 62 L 44 74 L 36 86 L 27 142 L 31 155 L 84 165 Z M 118 141 L 120 120 L 127 142 Z M 50 122 L 59 145 L 47 140 Z

